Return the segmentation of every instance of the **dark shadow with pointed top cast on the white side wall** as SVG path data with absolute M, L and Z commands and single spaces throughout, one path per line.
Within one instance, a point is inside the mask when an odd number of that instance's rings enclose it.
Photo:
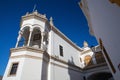
M 69 80 L 83 80 L 80 68 L 75 66 L 73 57 L 71 57 L 71 60 L 68 60 L 68 74 L 70 76 Z

